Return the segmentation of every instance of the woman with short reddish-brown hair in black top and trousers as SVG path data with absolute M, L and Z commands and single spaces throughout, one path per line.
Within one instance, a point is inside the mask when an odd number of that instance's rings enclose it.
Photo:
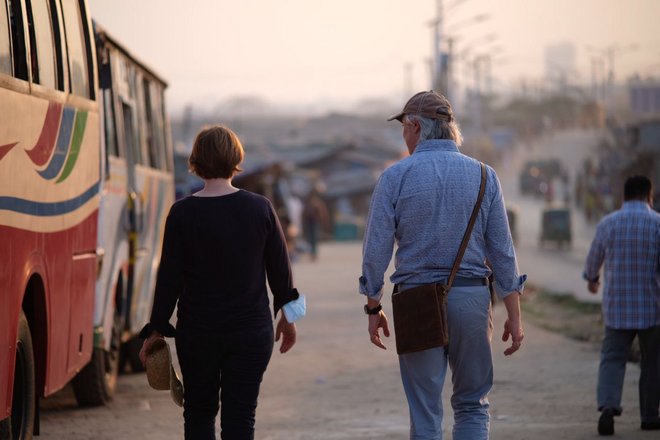
M 295 319 L 286 313 L 273 335 L 266 279 L 275 316 L 299 294 L 272 204 L 232 186 L 243 155 L 226 127 L 197 135 L 189 165 L 204 188 L 170 209 L 151 319 L 141 333 L 143 363 L 156 339 L 175 337 L 186 439 L 215 439 L 220 408 L 223 439 L 253 439 L 273 339 L 282 339 L 281 353 L 296 342 Z M 175 306 L 176 329 L 169 322 Z

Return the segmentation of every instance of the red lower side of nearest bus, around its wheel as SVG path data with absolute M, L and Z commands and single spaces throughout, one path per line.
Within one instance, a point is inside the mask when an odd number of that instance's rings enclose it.
M 39 322 L 47 329 L 45 340 L 41 340 L 41 334 L 33 328 L 35 350 L 45 350 L 45 353 L 35 353 L 37 383 L 44 384 L 37 393 L 48 396 L 61 389 L 89 361 L 96 261 L 81 260 L 75 262 L 72 269 L 67 260 L 72 260 L 73 244 L 77 240 L 84 236 L 95 240 L 97 221 L 97 213 L 93 213 L 73 228 L 50 233 L 0 225 L 0 242 L 7 250 L 0 252 L 0 267 L 3 268 L 0 378 L 4 381 L 0 388 L 0 414 L 9 414 L 18 315 L 32 276 L 39 277 L 44 285 L 47 315 L 29 317 L 33 327 Z M 87 232 L 81 234 L 81 231 Z M 76 268 L 80 263 L 81 267 Z M 82 347 L 79 337 L 69 336 L 72 327 L 81 329 L 78 333 L 84 334 Z

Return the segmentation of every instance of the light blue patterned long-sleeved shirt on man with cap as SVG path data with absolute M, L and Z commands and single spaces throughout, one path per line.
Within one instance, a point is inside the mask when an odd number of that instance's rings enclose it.
M 479 162 L 451 140 L 420 142 L 414 153 L 387 168 L 371 199 L 363 244 L 360 293 L 380 300 L 383 277 L 397 245 L 392 283 L 446 279 L 477 200 Z M 500 297 L 522 292 L 502 188 L 487 167 L 486 192 L 458 276 L 484 278 L 493 268 Z

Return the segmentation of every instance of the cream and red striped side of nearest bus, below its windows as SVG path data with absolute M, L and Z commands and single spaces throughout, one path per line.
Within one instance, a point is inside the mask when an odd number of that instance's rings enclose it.
M 8 283 L 3 272 L 0 279 L 0 285 L 9 286 L 3 292 L 9 307 L 3 309 L 10 314 L 0 321 L 0 351 L 15 349 L 18 313 L 38 261 L 49 316 L 43 318 L 48 340 L 35 344 L 48 344 L 42 345 L 47 354 L 42 350 L 37 356 L 45 359 L 45 365 L 37 365 L 45 378 L 37 382 L 44 383 L 48 395 L 64 386 L 91 352 L 80 334 L 92 331 L 96 266 L 86 258 L 93 260 L 96 249 L 98 114 L 93 106 L 79 108 L 3 88 L 0 104 L 11 109 L 0 118 L 0 243 L 3 248 L 11 243 L 3 258 L 12 275 L 21 278 Z M 2 380 L 9 383 L 13 358 L 3 356 Z M 5 402 L 11 399 L 8 388 L 0 391 Z

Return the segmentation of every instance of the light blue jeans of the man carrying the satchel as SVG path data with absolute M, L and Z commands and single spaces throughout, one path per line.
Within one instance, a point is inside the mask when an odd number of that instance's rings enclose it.
M 406 290 L 413 285 L 401 285 Z M 493 322 L 486 286 L 452 287 L 447 301 L 449 346 L 399 356 L 410 410 L 411 440 L 442 440 L 442 387 L 451 368 L 454 440 L 488 439 L 493 385 Z

